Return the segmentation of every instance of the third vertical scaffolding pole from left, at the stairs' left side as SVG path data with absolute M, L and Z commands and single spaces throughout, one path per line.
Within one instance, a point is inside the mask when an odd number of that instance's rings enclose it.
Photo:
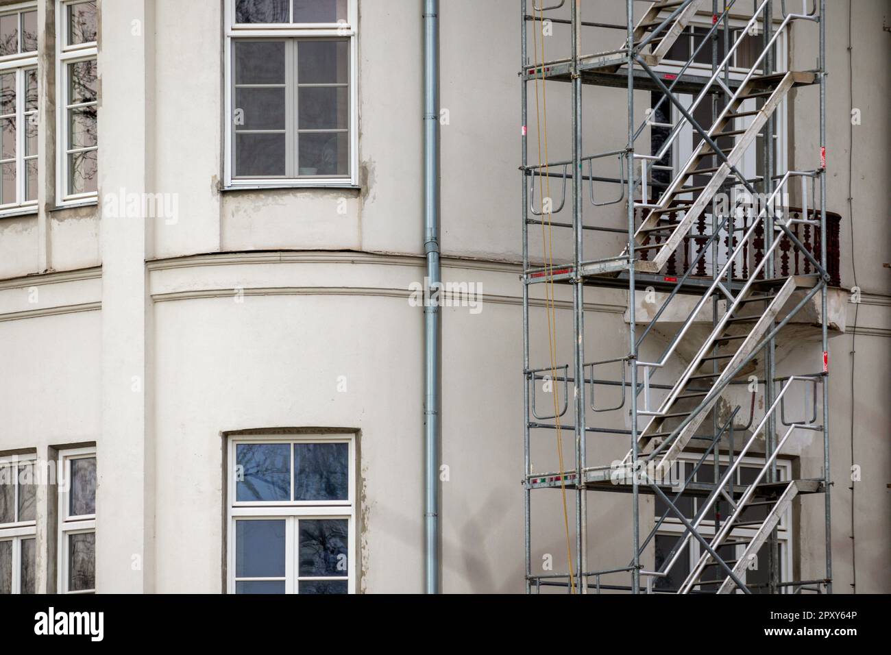
M 634 294 L 634 0 L 625 0 L 627 29 L 628 76 L 628 145 L 625 166 L 628 170 L 628 365 L 631 367 L 631 463 L 632 463 L 632 548 L 634 569 L 631 572 L 631 593 L 641 590 L 641 514 L 637 471 L 637 337 L 634 330 L 636 299 Z M 647 199 L 644 197 L 643 201 Z

